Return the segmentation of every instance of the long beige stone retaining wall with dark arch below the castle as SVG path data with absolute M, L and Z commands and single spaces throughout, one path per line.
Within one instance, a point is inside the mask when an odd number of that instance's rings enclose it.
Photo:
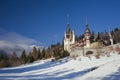
M 105 51 L 110 51 L 111 47 L 113 48 L 113 50 L 116 47 L 120 48 L 120 43 L 110 45 L 110 46 L 106 46 L 106 47 L 97 47 L 97 48 L 75 47 L 75 48 L 71 49 L 70 56 L 73 56 L 73 55 L 75 55 L 75 56 L 86 56 L 86 53 L 88 51 L 92 51 L 93 55 L 97 55 L 97 54 L 101 54 L 102 52 L 105 52 Z

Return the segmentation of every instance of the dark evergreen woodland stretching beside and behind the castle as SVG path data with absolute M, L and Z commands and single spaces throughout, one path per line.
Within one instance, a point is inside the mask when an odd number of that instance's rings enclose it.
M 111 35 L 114 41 L 114 44 L 120 43 L 120 29 L 115 28 L 111 31 Z M 76 41 L 80 41 L 84 35 L 76 36 Z M 91 33 L 91 43 L 101 40 L 106 46 L 110 45 L 109 32 L 98 32 L 95 34 Z M 27 55 L 26 51 L 23 50 L 21 56 L 18 57 L 17 53 L 14 51 L 12 55 L 8 56 L 4 51 L 0 52 L 0 67 L 12 67 L 18 66 L 21 64 L 32 63 L 36 60 L 48 59 L 48 58 L 64 58 L 69 56 L 67 51 L 63 49 L 63 43 L 52 44 L 48 48 L 39 48 L 33 47 L 33 50 Z

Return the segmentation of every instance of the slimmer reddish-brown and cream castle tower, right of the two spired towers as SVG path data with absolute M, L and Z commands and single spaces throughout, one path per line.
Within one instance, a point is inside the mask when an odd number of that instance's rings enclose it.
M 88 28 L 88 22 L 86 20 L 86 29 L 85 29 L 85 32 L 84 32 L 84 47 L 90 47 L 90 30 Z

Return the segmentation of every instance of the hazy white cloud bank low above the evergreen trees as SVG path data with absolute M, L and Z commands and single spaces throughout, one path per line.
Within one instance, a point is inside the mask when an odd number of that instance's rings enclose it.
M 20 56 L 23 49 L 27 51 L 32 50 L 33 45 L 42 48 L 42 46 L 38 46 L 40 42 L 22 36 L 15 32 L 7 32 L 4 29 L 0 28 L 0 50 L 5 51 L 7 54 L 12 54 L 13 51 L 16 51 L 18 56 Z

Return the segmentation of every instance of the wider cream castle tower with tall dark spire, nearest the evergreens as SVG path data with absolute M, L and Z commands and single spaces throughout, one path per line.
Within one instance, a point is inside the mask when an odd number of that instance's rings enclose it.
M 74 31 L 70 29 L 69 16 L 68 16 L 67 29 L 66 32 L 64 33 L 64 50 L 70 52 L 71 51 L 70 45 L 73 43 L 75 43 L 75 34 Z

